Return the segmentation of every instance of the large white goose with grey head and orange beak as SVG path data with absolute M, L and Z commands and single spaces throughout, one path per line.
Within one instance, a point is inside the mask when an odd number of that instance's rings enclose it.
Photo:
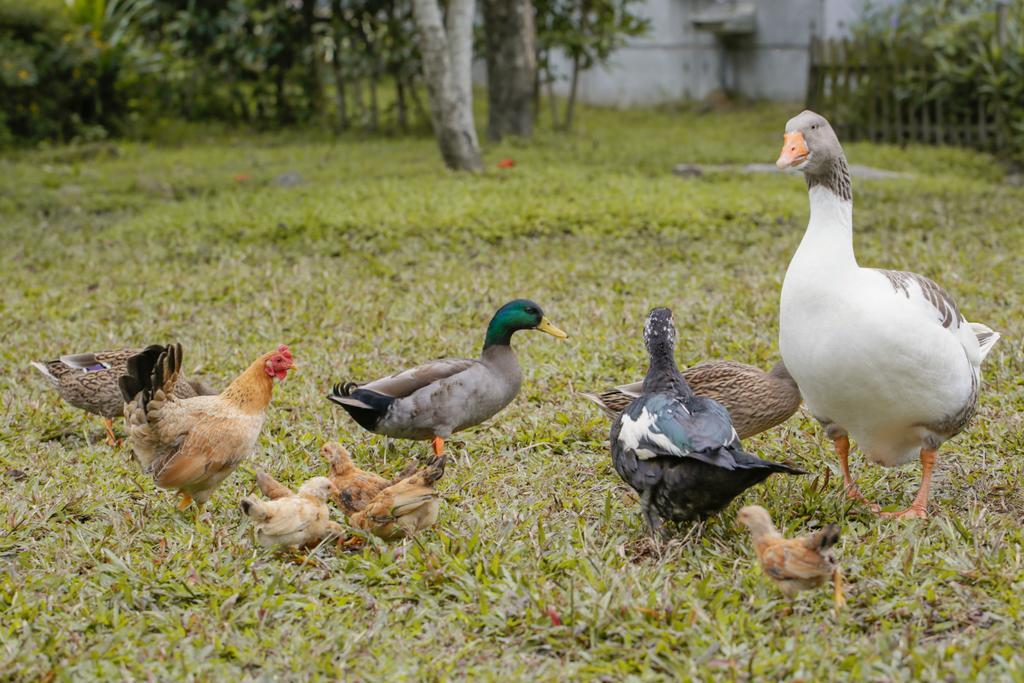
M 927 517 L 936 452 L 971 421 L 981 361 L 999 335 L 968 323 L 928 278 L 857 265 L 850 172 L 823 117 L 803 112 L 786 123 L 776 165 L 803 171 L 811 204 L 782 284 L 782 359 L 835 442 L 847 495 L 864 501 L 850 476 L 849 436 L 887 467 L 920 454 L 921 488 L 892 516 Z

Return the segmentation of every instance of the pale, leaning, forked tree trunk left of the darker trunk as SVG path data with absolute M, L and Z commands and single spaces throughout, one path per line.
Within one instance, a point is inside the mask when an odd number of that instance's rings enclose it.
M 458 171 L 483 168 L 473 124 L 474 1 L 451 0 L 445 30 L 437 0 L 413 0 L 434 135 L 444 164 Z

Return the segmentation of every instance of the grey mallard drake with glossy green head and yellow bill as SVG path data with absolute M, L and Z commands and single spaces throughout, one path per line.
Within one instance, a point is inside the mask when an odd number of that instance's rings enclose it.
M 509 345 L 519 330 L 568 335 L 527 299 L 510 301 L 487 326 L 479 358 L 441 358 L 365 384 L 336 384 L 328 399 L 364 429 L 394 438 L 432 440 L 435 456 L 444 439 L 488 420 L 519 393 L 522 374 Z

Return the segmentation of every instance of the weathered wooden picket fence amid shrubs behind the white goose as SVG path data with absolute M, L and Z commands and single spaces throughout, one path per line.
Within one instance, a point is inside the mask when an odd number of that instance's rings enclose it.
M 933 75 L 928 54 L 880 40 L 811 42 L 807 106 L 845 139 L 1000 150 L 1002 102 Z

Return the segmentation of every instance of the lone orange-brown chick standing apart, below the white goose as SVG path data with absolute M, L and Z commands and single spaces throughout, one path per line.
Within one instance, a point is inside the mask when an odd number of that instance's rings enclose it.
M 741 508 L 736 521 L 751 530 L 761 568 L 786 597 L 817 588 L 831 577 L 836 606 L 846 603 L 843 573 L 833 554 L 833 547 L 839 541 L 838 525 L 826 524 L 814 533 L 783 539 L 768 511 L 758 505 Z

